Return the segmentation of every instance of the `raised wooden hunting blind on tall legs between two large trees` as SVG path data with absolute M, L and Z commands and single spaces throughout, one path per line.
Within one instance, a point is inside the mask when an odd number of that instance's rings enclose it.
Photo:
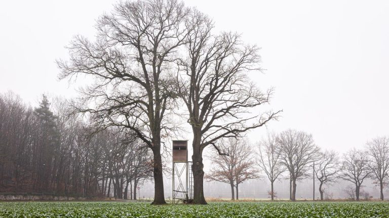
M 173 141 L 173 204 L 193 200 L 192 162 L 188 161 L 188 141 Z

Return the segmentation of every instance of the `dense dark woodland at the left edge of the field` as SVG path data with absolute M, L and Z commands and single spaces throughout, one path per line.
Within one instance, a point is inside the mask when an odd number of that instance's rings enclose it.
M 0 192 L 136 199 L 152 178 L 147 147 L 120 128 L 97 132 L 67 105 L 0 95 Z

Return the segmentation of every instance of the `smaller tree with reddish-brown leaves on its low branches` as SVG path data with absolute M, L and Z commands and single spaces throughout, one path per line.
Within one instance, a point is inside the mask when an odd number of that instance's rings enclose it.
M 246 139 L 229 138 L 227 145 L 221 146 L 229 151 L 229 155 L 209 155 L 213 168 L 205 178 L 217 182 L 227 183 L 231 187 L 231 200 L 239 199 L 239 185 L 246 180 L 258 178 L 259 171 L 252 160 L 253 150 Z

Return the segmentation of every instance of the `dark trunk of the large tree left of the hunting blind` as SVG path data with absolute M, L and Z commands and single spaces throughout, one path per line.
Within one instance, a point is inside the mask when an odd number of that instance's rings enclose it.
M 153 143 L 153 145 L 154 148 L 152 152 L 154 154 L 154 200 L 151 204 L 166 204 L 164 193 L 164 178 L 162 171 L 161 142 L 155 142 Z M 136 186 L 134 185 L 134 187 Z

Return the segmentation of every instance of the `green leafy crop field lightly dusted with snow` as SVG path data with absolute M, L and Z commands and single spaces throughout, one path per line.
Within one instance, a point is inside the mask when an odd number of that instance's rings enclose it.
M 0 202 L 0 217 L 389 217 L 389 203 L 239 202 L 151 206 L 126 202 Z

